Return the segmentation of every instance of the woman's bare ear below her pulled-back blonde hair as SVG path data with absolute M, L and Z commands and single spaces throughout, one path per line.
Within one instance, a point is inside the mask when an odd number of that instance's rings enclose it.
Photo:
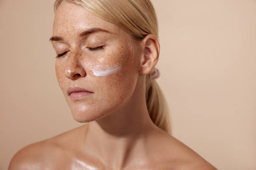
M 160 45 L 156 37 L 152 34 L 147 35 L 142 40 L 141 63 L 139 73 L 147 75 L 150 73 L 158 62 Z

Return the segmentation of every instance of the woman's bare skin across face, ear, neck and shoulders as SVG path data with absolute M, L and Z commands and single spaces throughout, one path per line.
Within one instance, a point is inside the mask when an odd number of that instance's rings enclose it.
M 108 32 L 79 34 L 91 28 Z M 88 122 L 53 138 L 28 145 L 15 154 L 9 170 L 216 170 L 192 149 L 151 121 L 145 99 L 145 75 L 159 58 L 154 35 L 137 41 L 112 23 L 79 5 L 62 2 L 53 27 L 56 77 L 78 122 Z M 104 50 L 90 47 L 104 45 Z M 89 65 L 120 63 L 115 74 L 97 77 Z M 93 93 L 80 100 L 70 86 Z

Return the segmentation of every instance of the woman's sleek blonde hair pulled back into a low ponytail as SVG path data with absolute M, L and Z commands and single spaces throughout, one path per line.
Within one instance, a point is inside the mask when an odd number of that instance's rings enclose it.
M 56 0 L 54 13 L 64 0 Z M 146 35 L 158 36 L 156 12 L 150 0 L 67 0 L 81 5 L 90 13 L 129 32 L 136 40 Z M 146 103 L 152 122 L 172 134 L 169 109 L 161 88 L 146 75 Z

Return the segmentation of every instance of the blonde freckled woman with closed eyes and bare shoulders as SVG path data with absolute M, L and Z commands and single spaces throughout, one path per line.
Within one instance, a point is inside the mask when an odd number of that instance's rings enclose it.
M 33 143 L 9 170 L 215 170 L 171 135 L 149 0 L 56 0 L 56 77 L 78 122 Z M 146 96 L 146 97 L 145 97 Z

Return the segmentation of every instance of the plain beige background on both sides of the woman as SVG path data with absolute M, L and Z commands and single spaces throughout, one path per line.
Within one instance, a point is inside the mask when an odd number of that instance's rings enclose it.
M 220 170 L 256 170 L 256 1 L 153 0 L 174 137 Z M 0 0 L 0 169 L 82 125 L 55 77 L 54 0 Z

